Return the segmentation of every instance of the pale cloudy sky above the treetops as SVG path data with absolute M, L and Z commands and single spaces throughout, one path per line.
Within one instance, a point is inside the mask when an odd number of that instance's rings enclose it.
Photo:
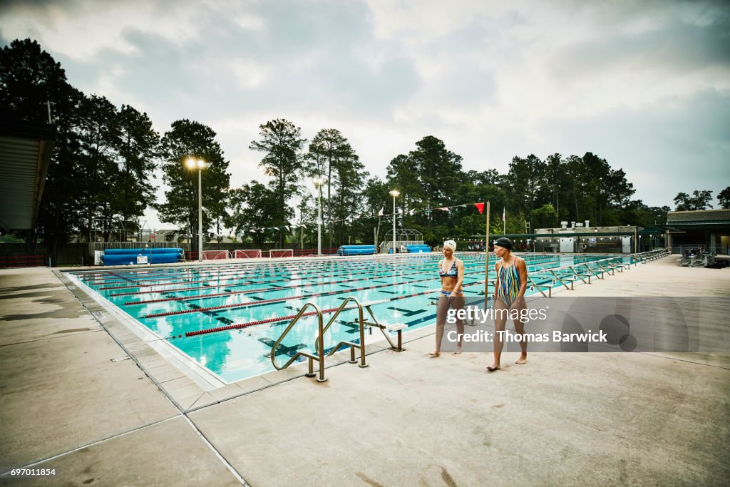
M 464 169 L 591 151 L 650 205 L 730 185 L 722 1 L 3 1 L 0 42 L 26 37 L 161 134 L 211 126 L 233 185 L 265 179 L 273 118 L 339 129 L 380 177 L 433 135 Z

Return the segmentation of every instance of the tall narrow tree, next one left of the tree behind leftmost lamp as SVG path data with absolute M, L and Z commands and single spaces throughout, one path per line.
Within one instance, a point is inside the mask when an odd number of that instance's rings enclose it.
M 118 129 L 119 172 L 112 196 L 126 239 L 127 231 L 139 229 L 139 223 L 131 220 L 142 216 L 145 208 L 153 204 L 155 188 L 150 175 L 155 169 L 160 137 L 147 114 L 129 105 L 122 105 L 118 112 Z

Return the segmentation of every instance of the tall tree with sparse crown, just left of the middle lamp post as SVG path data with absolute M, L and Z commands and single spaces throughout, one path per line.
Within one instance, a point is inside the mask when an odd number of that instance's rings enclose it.
M 249 148 L 265 154 L 259 167 L 263 167 L 264 173 L 273 178 L 269 184 L 279 202 L 278 207 L 272 208 L 272 216 L 277 226 L 286 225 L 293 214 L 287 202 L 296 193 L 296 183 L 304 170 L 301 149 L 307 139 L 301 138 L 299 127 L 283 118 L 270 120 L 258 128 L 261 139 L 253 140 Z M 279 239 L 279 245 L 283 245 L 283 236 Z

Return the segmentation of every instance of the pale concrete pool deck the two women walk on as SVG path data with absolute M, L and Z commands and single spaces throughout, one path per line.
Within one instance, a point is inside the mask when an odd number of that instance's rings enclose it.
M 564 293 L 730 298 L 730 269 L 676 258 Z M 283 371 L 206 390 L 67 285 L 53 269 L 0 270 L 0 465 L 58 472 L 0 486 L 730 478 L 730 353 L 533 353 L 520 366 L 507 353 L 490 374 L 491 353 L 428 358 L 431 326 L 366 369 L 328 367 L 325 383 Z

